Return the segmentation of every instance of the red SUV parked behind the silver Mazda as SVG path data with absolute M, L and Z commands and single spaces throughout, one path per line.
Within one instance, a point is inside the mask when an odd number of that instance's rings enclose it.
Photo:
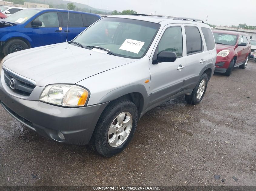
M 247 34 L 214 30 L 217 60 L 215 72 L 230 76 L 234 67 L 246 68 L 251 53 L 250 37 Z

